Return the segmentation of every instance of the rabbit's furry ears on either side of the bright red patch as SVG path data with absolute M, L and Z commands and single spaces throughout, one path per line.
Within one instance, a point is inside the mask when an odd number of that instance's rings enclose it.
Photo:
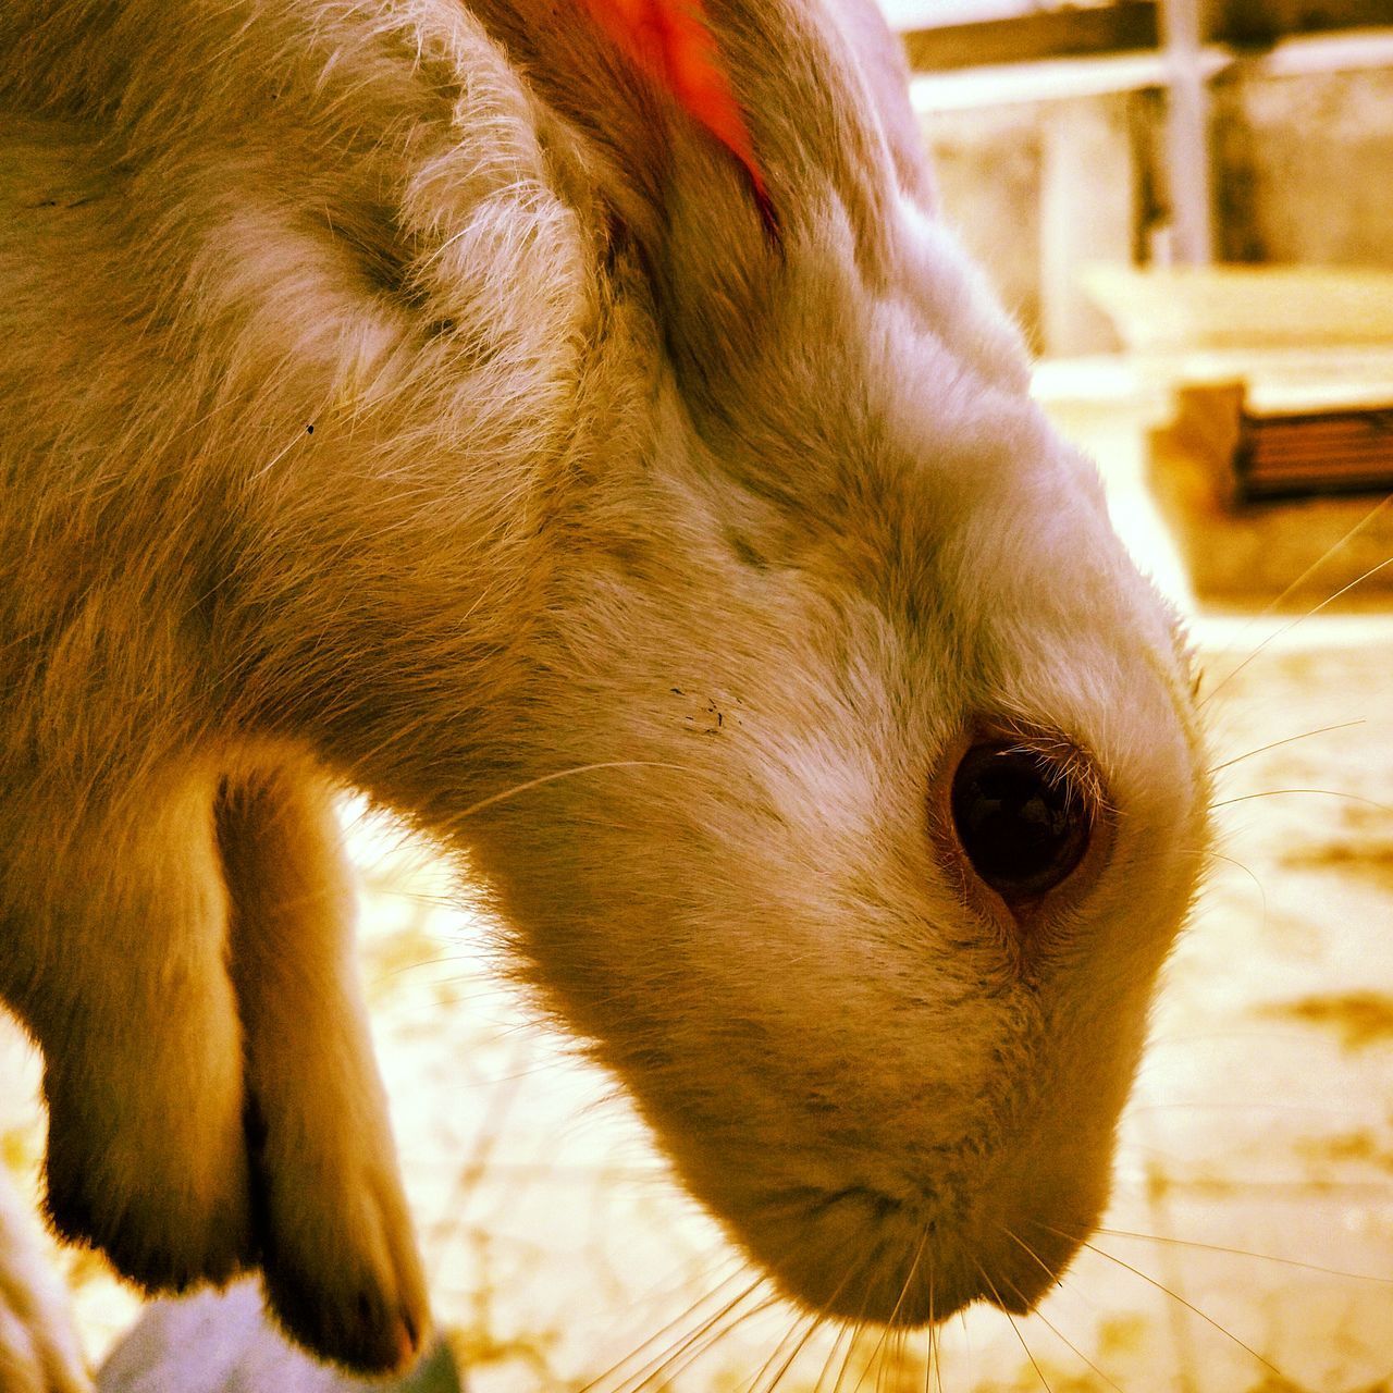
M 581 134 L 602 198 L 642 248 L 678 372 L 715 387 L 758 358 L 786 259 L 822 242 L 829 216 L 847 228 L 861 273 L 882 273 L 901 164 L 918 180 L 922 160 L 915 169 L 892 153 L 868 68 L 893 67 L 893 39 L 861 0 L 846 33 L 816 0 L 685 8 L 709 31 L 706 57 L 742 123 L 734 138 L 694 110 L 660 63 L 635 57 L 623 39 L 630 20 L 592 14 L 656 3 L 472 0 L 471 10 L 542 106 Z M 897 96 L 903 139 L 912 118 Z

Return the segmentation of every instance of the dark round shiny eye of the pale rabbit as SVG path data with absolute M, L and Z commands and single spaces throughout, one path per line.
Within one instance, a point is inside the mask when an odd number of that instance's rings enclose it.
M 972 869 L 1007 904 L 1032 900 L 1067 879 L 1094 826 L 1068 772 L 1009 741 L 968 748 L 953 776 L 951 809 Z

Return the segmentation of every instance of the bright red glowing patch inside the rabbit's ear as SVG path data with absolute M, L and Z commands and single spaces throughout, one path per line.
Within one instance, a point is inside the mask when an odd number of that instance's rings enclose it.
M 777 234 L 769 189 L 702 0 L 581 0 L 628 59 L 695 117 L 749 176 L 759 216 Z

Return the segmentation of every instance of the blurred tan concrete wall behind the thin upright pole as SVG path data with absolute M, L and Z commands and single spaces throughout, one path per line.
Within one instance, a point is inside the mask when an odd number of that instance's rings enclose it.
M 1237 63 L 1212 92 L 1222 259 L 1393 266 L 1393 68 Z M 1116 347 L 1078 266 L 1163 259 L 1163 120 L 1155 89 L 924 117 L 947 216 L 1039 351 Z

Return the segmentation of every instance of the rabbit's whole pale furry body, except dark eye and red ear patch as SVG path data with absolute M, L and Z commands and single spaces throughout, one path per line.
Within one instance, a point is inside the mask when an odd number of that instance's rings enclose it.
M 579 8 L 0 7 L 0 995 L 49 1211 L 149 1287 L 260 1265 L 358 1367 L 426 1307 L 333 784 L 468 858 L 786 1291 L 882 1319 L 1022 1308 L 1094 1224 L 1198 872 L 1173 618 L 889 36 L 709 10 L 776 237 Z M 936 812 L 992 729 L 1106 788 L 1029 914 Z

